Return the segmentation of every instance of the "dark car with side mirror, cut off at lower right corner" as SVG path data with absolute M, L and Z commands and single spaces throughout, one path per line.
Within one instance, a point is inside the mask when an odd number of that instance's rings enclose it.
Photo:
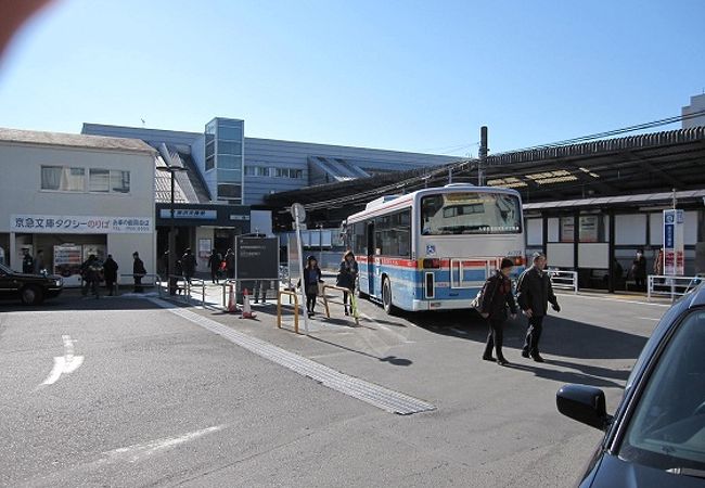
M 591 386 L 566 385 L 556 403 L 605 432 L 579 487 L 705 487 L 705 285 L 664 314 L 614 415 Z

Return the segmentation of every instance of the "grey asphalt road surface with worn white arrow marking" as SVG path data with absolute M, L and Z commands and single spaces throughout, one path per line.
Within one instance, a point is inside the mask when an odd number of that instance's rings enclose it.
M 666 310 L 562 296 L 537 364 L 482 361 L 485 326 L 466 313 L 389 318 L 339 307 L 310 336 L 197 313 L 424 399 L 394 415 L 326 388 L 149 300 L 62 297 L 0 304 L 1 486 L 569 486 L 600 438 L 555 411 L 555 390 L 605 388 L 614 408 Z M 55 359 L 59 358 L 59 359 Z M 56 367 L 56 368 L 54 368 Z M 52 370 L 53 374 L 52 374 Z M 57 374 L 63 371 L 62 374 Z

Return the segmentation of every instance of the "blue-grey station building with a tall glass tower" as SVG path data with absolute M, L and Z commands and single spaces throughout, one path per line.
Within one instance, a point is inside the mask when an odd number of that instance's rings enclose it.
M 177 252 L 192 247 L 200 270 L 211 248 L 225 253 L 244 233 L 280 233 L 265 197 L 311 185 L 394 175 L 453 162 L 456 157 L 245 137 L 244 120 L 214 118 L 203 132 L 84 124 L 84 134 L 139 139 L 188 171 L 175 176 Z M 157 168 L 158 169 L 158 168 Z M 167 248 L 170 175 L 156 172 L 157 254 Z M 285 222 L 286 223 L 286 222 Z M 285 224 L 284 223 L 284 224 Z M 306 234 L 310 244 L 330 249 L 338 229 Z M 309 242 L 307 241 L 307 242 Z M 283 242 L 285 243 L 285 235 Z

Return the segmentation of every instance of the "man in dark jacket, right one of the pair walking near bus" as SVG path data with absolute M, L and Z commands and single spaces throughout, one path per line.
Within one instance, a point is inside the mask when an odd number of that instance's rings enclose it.
M 561 311 L 559 300 L 553 294 L 551 278 L 543 268 L 546 268 L 546 256 L 541 253 L 534 253 L 534 266 L 522 273 L 516 286 L 518 306 L 528 318 L 522 356 L 525 358 L 530 356 L 536 362 L 543 362 L 543 358 L 539 354 L 539 341 L 549 301 L 553 310 Z

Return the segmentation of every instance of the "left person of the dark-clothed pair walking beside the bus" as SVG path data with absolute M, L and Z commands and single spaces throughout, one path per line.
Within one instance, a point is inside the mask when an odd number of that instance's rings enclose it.
M 516 318 L 516 303 L 514 301 L 514 294 L 512 294 L 512 281 L 509 278 L 513 267 L 514 262 L 511 259 L 502 259 L 500 269 L 485 282 L 479 301 L 479 314 L 487 319 L 489 325 L 483 359 L 485 361 L 497 361 L 499 365 L 509 364 L 502 354 L 508 307 L 512 313 L 512 320 Z M 492 349 L 496 351 L 496 358 L 492 357 Z

